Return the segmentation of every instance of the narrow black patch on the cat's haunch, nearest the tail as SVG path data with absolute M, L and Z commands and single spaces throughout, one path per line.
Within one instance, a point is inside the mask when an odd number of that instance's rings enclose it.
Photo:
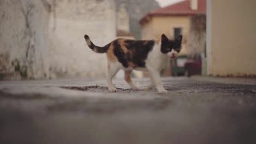
M 118 43 L 118 40 L 114 40 L 113 41 L 113 46 L 114 46 L 114 55 L 118 58 L 118 61 L 123 64 L 123 66 L 125 68 L 128 68 L 129 65 L 127 63 L 127 59 L 126 59 L 126 55 L 123 51 L 123 49 L 121 49 L 121 45 Z

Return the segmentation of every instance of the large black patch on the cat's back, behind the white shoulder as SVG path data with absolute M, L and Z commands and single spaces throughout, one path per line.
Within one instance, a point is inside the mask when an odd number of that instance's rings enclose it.
M 125 46 L 130 52 L 128 61 L 136 64 L 138 67 L 145 67 L 145 60 L 148 53 L 153 49 L 154 40 L 125 40 Z

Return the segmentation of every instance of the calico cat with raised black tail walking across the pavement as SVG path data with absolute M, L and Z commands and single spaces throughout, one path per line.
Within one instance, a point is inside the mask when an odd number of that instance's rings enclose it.
M 109 44 L 100 47 L 94 45 L 88 35 L 84 35 L 87 45 L 97 53 L 107 53 L 108 70 L 107 85 L 109 92 L 117 92 L 112 83 L 112 78 L 119 69 L 125 71 L 125 81 L 131 89 L 139 90 L 131 81 L 132 70 L 148 71 L 150 85 L 146 90 L 154 86 L 159 93 L 167 93 L 160 79 L 160 71 L 166 67 L 168 57 L 175 58 L 181 51 L 182 35 L 170 40 L 165 34 L 161 40 L 131 40 L 115 39 Z

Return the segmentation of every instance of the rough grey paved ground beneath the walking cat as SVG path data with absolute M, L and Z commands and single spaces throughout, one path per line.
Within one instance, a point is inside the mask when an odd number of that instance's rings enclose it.
M 163 81 L 161 95 L 123 80 L 117 93 L 104 80 L 2 81 L 0 143 L 256 143 L 255 79 Z

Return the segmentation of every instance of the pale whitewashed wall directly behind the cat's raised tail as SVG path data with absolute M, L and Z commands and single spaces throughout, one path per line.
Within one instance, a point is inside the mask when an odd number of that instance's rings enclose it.
M 95 77 L 106 75 L 106 55 L 91 51 L 84 34 L 95 45 L 115 39 L 116 17 L 112 0 L 57 1 L 56 29 L 51 17 L 51 77 Z

